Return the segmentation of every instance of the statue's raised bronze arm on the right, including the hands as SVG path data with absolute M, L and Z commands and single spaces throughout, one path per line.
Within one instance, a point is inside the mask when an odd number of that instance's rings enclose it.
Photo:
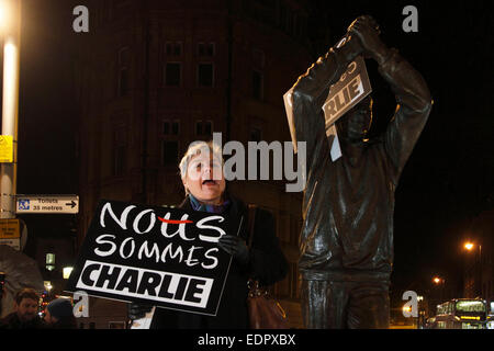
M 379 72 L 396 98 L 396 112 L 384 133 L 384 147 L 397 180 L 430 114 L 430 92 L 420 73 L 381 41 L 372 18 L 357 19 L 349 32 L 360 38 L 364 55 L 378 63 Z

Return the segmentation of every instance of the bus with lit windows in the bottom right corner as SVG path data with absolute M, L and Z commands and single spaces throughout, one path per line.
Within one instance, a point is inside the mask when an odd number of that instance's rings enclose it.
M 437 306 L 435 329 L 485 329 L 487 304 L 481 298 L 454 298 Z

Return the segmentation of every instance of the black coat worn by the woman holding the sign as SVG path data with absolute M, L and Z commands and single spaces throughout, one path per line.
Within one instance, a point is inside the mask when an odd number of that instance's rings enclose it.
M 225 210 L 228 218 L 228 234 L 236 235 L 240 218 L 243 225 L 239 236 L 248 242 L 248 210 L 239 200 L 229 197 Z M 189 197 L 180 205 L 193 211 Z M 254 227 L 252 247 L 249 263 L 242 267 L 234 259 L 226 279 L 225 288 L 215 317 L 180 313 L 171 309 L 156 308 L 150 329 L 165 328 L 212 328 L 246 329 L 249 328 L 247 313 L 247 281 L 254 276 L 263 285 L 281 281 L 288 271 L 287 260 L 276 237 L 274 220 L 269 212 L 258 208 Z

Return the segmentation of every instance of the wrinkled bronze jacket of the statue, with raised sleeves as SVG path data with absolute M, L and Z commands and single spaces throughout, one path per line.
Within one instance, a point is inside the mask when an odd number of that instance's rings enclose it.
M 379 71 L 396 98 L 393 118 L 383 135 L 359 145 L 358 159 L 343 143 L 343 157 L 332 161 L 322 106 L 348 64 L 343 49 L 332 48 L 293 87 L 296 139 L 306 141 L 307 155 L 299 267 L 305 279 L 389 280 L 394 192 L 431 98 L 422 76 L 392 49 Z

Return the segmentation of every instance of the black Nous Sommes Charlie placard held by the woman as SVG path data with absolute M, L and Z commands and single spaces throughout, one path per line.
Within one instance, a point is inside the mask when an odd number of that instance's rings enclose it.
M 227 228 L 220 214 L 101 201 L 66 291 L 215 316 Z

